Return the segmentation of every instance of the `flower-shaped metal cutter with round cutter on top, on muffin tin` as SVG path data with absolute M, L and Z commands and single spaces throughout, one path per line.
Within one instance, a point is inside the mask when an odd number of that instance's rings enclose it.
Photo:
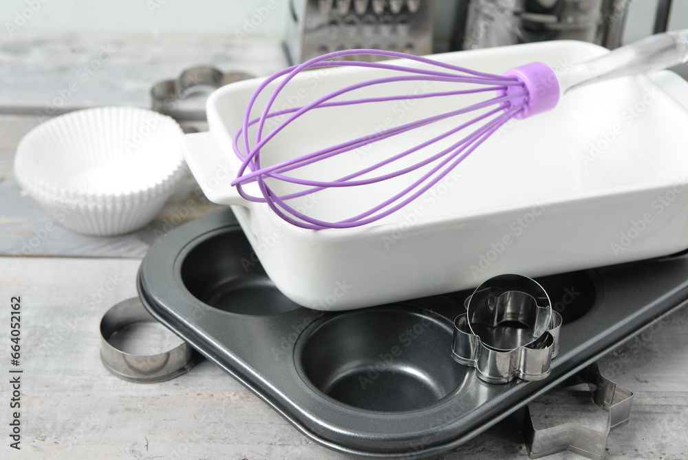
M 535 280 L 499 275 L 475 289 L 454 320 L 453 358 L 493 384 L 544 379 L 559 351 L 561 315 Z

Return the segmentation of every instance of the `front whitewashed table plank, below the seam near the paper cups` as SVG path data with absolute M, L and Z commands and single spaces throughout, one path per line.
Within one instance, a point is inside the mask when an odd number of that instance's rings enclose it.
M 98 357 L 100 317 L 136 295 L 138 260 L 0 258 L 0 373 L 8 372 L 12 295 L 21 295 L 23 450 L 2 458 L 344 459 L 308 440 L 210 362 L 160 384 L 110 375 Z M 110 282 L 108 282 L 110 281 Z M 612 432 L 612 459 L 682 459 L 688 453 L 688 309 L 602 359 L 636 393 L 630 424 Z M 10 398 L 6 378 L 0 404 Z M 595 428 L 605 412 L 560 391 L 531 404 L 539 424 Z M 3 450 L 8 410 L 0 415 Z M 524 459 L 515 433 L 491 429 L 444 460 Z M 563 452 L 552 459 L 578 459 Z

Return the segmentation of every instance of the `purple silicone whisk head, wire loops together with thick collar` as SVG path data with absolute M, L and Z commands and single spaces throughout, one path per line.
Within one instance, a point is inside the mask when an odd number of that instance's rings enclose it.
M 330 61 L 330 59 L 354 54 L 374 54 L 405 58 L 422 63 L 423 66 L 408 67 L 396 62 Z M 385 70 L 389 72 L 389 76 L 381 76 L 343 87 L 301 106 L 286 107 L 284 109 L 272 108 L 281 91 L 299 72 L 312 67 L 343 66 Z M 343 98 L 348 93 L 361 90 L 362 88 L 409 81 L 449 83 L 449 87 L 445 85 L 442 87 L 442 91 L 424 92 L 414 94 L 413 96 L 400 94 Z M 277 86 L 272 94 L 268 96 L 268 100 L 261 109 L 260 115 L 251 118 L 251 111 L 257 98 L 273 82 Z M 547 84 L 542 84 L 542 82 Z M 455 88 L 453 87 L 454 84 L 456 85 Z M 290 123 L 294 123 L 294 121 L 297 121 L 301 116 L 312 110 L 347 105 L 362 105 L 365 107 L 365 105 L 374 103 L 404 101 L 409 99 L 409 97 L 414 99 L 437 98 L 438 107 L 442 107 L 443 97 L 483 92 L 486 94 L 492 92 L 493 94 L 491 94 L 491 97 L 486 98 L 485 101 L 474 103 L 467 107 L 453 108 L 447 112 L 413 120 L 409 123 L 385 127 L 378 132 L 371 132 L 365 136 L 328 145 L 314 151 L 308 151 L 305 154 L 281 160 L 268 166 L 261 166 L 261 149 L 264 149 L 270 140 L 275 138 L 283 129 L 286 129 Z M 425 194 L 511 118 L 526 118 L 527 116 L 544 112 L 554 107 L 558 99 L 559 86 L 557 85 L 556 76 L 550 67 L 541 63 L 516 67 L 505 72 L 504 75 L 495 75 L 399 52 L 345 50 L 324 54 L 301 65 L 288 67 L 270 76 L 252 94 L 244 114 L 243 124 L 233 139 L 234 151 L 241 160 L 241 167 L 232 185 L 237 187 L 237 191 L 244 199 L 254 202 L 266 202 L 277 216 L 297 227 L 305 229 L 358 227 L 389 216 L 389 214 L 409 205 L 410 202 Z M 407 133 L 412 129 L 423 129 L 423 127 L 427 127 L 431 123 L 447 121 L 453 117 L 471 112 L 476 112 L 476 116 L 468 121 L 457 122 L 441 134 L 433 134 L 429 139 L 418 142 L 416 145 L 409 145 L 403 151 L 390 152 L 385 154 L 385 156 L 380 156 L 380 158 L 376 158 L 376 163 L 362 169 L 346 171 L 346 174 L 338 176 L 334 180 L 301 178 L 299 174 L 290 174 L 290 171 L 307 167 L 312 163 L 334 158 L 355 149 L 378 143 L 392 136 Z M 274 117 L 284 117 L 284 119 L 272 129 L 267 130 L 266 123 Z M 250 139 L 250 128 L 255 129 L 255 138 L 253 139 Z M 439 141 L 443 141 L 444 145 L 449 143 L 449 147 L 438 147 L 439 151 L 409 164 L 408 159 L 413 158 L 410 155 L 421 149 L 427 150 L 431 145 Z M 330 189 L 332 187 L 364 187 L 405 175 L 408 175 L 410 179 L 409 183 L 402 190 L 392 193 L 391 196 L 380 197 L 380 202 L 377 205 L 363 212 L 357 212 L 354 216 L 348 216 L 334 222 L 308 216 L 303 212 L 303 209 L 299 210 L 297 209 L 299 207 L 294 207 L 288 203 L 289 200 L 308 196 L 323 189 Z M 268 180 L 290 182 L 301 187 L 301 189 L 280 195 L 270 187 L 269 183 L 266 182 Z M 260 195 L 251 195 L 246 191 L 244 185 L 250 182 L 257 182 Z

